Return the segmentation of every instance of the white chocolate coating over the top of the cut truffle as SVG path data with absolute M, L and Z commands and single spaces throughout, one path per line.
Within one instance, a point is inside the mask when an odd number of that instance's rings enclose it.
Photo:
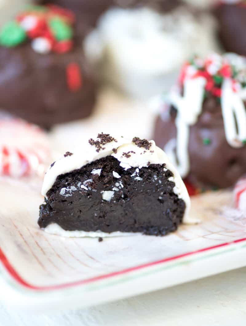
M 101 149 L 97 152 L 94 145 L 88 143 L 86 148 L 78 149 L 76 153 L 71 156 L 62 157 L 55 162 L 55 164 L 48 169 L 42 187 L 42 195 L 46 196 L 47 191 L 52 187 L 56 178 L 60 174 L 64 174 L 76 169 L 80 169 L 88 163 L 91 163 L 99 158 L 106 156 L 114 156 L 120 162 L 120 165 L 127 169 L 130 167 L 136 167 L 136 173 L 139 172 L 138 169 L 142 167 L 147 167 L 149 164 L 166 164 L 165 170 L 168 169 L 173 173 L 171 177 L 175 186 L 173 188 L 174 193 L 186 204 L 186 209 L 184 213 L 183 221 L 189 223 L 189 209 L 190 209 L 190 198 L 187 192 L 187 189 L 181 179 L 180 174 L 171 164 L 167 155 L 157 146 L 155 146 L 154 141 L 150 141 L 150 149 L 145 149 L 143 147 L 138 147 L 135 143 L 124 139 L 123 137 L 118 138 L 116 141 L 111 141 L 106 145 L 102 145 L 104 149 Z M 114 153 L 113 149 L 117 149 L 117 152 Z M 130 156 L 126 157 L 123 153 L 130 152 Z M 112 171 L 113 172 L 113 171 Z M 137 176 L 136 176 L 137 178 Z M 85 185 L 86 186 L 86 185 Z M 113 194 L 102 194 L 107 197 L 108 195 Z M 112 196 L 111 196 L 112 197 Z

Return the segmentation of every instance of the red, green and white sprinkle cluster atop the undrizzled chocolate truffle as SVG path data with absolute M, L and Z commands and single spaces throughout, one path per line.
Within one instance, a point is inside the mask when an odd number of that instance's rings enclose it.
M 0 45 L 15 47 L 26 40 L 38 53 L 68 52 L 73 47 L 74 14 L 55 5 L 28 6 L 0 31 Z

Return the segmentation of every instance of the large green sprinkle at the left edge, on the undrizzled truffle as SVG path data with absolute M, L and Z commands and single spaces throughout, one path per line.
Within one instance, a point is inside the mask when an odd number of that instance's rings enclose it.
M 6 47 L 21 44 L 26 39 L 25 30 L 17 22 L 7 22 L 0 32 L 0 44 Z

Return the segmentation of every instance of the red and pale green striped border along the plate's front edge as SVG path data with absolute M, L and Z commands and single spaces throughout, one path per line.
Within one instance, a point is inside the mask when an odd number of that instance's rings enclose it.
M 82 279 L 74 282 L 68 282 L 68 283 L 66 282 L 63 284 L 49 285 L 49 286 L 35 286 L 33 284 L 28 283 L 28 281 L 25 281 L 24 278 L 12 266 L 6 254 L 4 254 L 4 252 L 0 247 L 0 272 L 1 270 L 3 271 L 3 273 L 0 273 L 0 278 L 2 278 L 3 281 L 7 282 L 8 287 L 10 287 L 12 290 L 22 292 L 22 293 L 24 291 L 26 294 L 35 293 L 36 295 L 42 295 L 44 293 L 47 294 L 47 293 L 62 291 L 64 289 L 75 289 L 77 287 L 81 289 L 87 285 L 94 285 L 101 281 L 111 280 L 116 277 L 126 276 L 128 274 L 137 273 L 140 271 L 143 272 L 149 271 L 152 272 L 153 274 L 156 272 L 155 267 L 160 267 L 160 266 L 165 267 L 167 265 L 174 267 L 175 265 L 179 265 L 180 263 L 185 264 L 185 263 L 194 262 L 195 260 L 197 260 L 197 255 L 201 256 L 202 259 L 206 259 L 210 255 L 215 255 L 215 254 L 221 255 L 226 253 L 227 251 L 238 250 L 244 247 L 246 247 L 246 237 L 230 242 L 225 242 L 222 244 L 213 245 L 210 247 L 205 247 L 199 250 L 186 252 L 180 255 L 154 260 L 144 264 L 139 264 L 115 272 L 101 274 L 91 278 L 86 278 L 86 279 Z M 214 254 L 212 252 L 214 252 Z

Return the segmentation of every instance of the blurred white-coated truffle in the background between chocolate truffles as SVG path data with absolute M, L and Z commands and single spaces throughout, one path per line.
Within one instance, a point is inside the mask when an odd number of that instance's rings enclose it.
M 168 91 L 194 51 L 217 50 L 215 29 L 208 12 L 184 1 L 139 1 L 105 12 L 85 39 L 85 53 L 102 80 L 147 97 Z

